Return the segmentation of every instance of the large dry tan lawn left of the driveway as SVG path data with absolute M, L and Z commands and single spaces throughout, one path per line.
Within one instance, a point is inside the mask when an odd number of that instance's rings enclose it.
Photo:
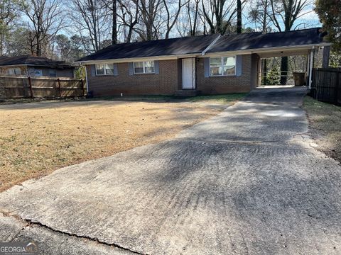
M 1 106 L 0 191 L 62 166 L 172 138 L 221 109 L 124 101 Z

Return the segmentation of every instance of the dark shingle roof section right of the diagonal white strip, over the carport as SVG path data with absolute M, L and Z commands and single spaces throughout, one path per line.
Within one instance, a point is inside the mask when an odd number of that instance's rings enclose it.
M 244 33 L 239 35 L 224 35 L 207 52 L 314 45 L 322 41 L 322 38 L 319 36 L 319 29 L 310 28 L 267 34 Z

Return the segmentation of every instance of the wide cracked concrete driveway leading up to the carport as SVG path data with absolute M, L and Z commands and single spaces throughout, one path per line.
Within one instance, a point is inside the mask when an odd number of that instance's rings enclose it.
M 341 167 L 304 89 L 256 89 L 175 140 L 0 194 L 0 240 L 42 254 L 341 254 Z

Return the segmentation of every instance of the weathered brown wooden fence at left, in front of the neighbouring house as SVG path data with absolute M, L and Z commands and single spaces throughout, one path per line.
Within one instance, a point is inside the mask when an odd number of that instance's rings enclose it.
M 85 82 L 80 79 L 0 77 L 0 98 L 66 98 L 85 94 Z

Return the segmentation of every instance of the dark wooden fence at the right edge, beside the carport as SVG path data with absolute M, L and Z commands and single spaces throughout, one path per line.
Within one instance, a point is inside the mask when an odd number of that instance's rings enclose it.
M 318 101 L 341 105 L 341 69 L 313 69 L 313 83 L 310 96 Z

